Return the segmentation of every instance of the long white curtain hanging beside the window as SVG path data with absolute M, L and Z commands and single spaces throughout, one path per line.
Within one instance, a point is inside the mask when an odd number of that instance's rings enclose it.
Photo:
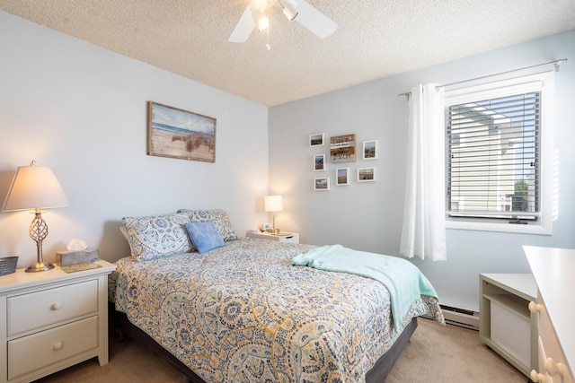
M 405 205 L 400 254 L 446 260 L 443 88 L 418 85 L 409 100 Z

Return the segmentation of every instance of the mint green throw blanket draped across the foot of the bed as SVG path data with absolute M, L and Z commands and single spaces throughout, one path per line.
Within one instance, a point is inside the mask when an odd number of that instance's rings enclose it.
M 403 317 L 407 314 L 411 303 L 420 299 L 420 295 L 438 297 L 438 293 L 425 275 L 421 274 L 420 269 L 399 257 L 331 245 L 299 254 L 291 260 L 291 264 L 358 274 L 383 283 L 391 295 L 395 331 L 400 330 Z

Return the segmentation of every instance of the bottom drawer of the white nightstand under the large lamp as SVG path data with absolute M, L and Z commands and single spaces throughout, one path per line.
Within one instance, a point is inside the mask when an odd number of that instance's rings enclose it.
M 8 380 L 98 347 L 98 316 L 8 342 Z

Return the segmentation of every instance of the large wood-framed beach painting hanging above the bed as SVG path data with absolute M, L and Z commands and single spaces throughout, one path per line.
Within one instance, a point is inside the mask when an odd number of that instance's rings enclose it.
M 216 162 L 216 118 L 147 103 L 147 154 Z

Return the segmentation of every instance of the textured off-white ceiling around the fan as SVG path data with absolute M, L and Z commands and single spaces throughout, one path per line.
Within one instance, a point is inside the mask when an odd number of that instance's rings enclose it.
M 266 106 L 575 29 L 575 0 L 307 0 L 338 30 L 319 39 L 274 9 L 267 50 L 258 30 L 227 42 L 249 3 L 0 0 L 0 10 Z

